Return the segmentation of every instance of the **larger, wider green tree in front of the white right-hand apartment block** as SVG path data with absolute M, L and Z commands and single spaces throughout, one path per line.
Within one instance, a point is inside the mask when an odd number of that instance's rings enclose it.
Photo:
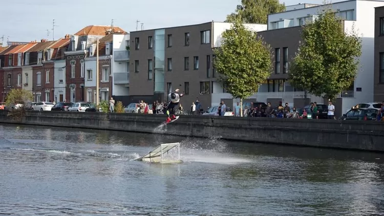
M 303 27 L 303 42 L 289 72 L 290 83 L 314 95 L 334 99 L 350 87 L 358 69 L 361 39 L 331 9 Z

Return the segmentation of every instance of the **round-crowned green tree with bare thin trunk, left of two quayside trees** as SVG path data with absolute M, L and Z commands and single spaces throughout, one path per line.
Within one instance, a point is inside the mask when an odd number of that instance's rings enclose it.
M 240 20 L 223 32 L 221 43 L 221 47 L 215 49 L 214 60 L 220 74 L 218 80 L 234 98 L 240 98 L 243 110 L 243 99 L 258 92 L 260 84 L 271 74 L 271 49 Z

